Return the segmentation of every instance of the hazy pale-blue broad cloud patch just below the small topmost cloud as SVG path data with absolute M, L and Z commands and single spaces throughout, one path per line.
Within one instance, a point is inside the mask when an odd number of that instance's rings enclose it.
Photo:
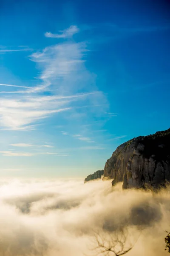
M 70 73 L 81 69 L 84 53 L 87 51 L 84 43 L 62 43 L 46 47 L 42 52 L 30 55 L 31 61 L 37 62 L 42 69 L 40 79 L 44 86 L 59 84 L 55 79 L 63 79 Z M 60 80 L 61 82 L 61 80 Z

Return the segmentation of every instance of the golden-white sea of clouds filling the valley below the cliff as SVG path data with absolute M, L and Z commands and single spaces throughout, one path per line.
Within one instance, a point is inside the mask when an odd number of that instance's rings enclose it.
M 106 255 L 95 249 L 95 237 L 114 239 L 120 230 L 133 247 L 127 256 L 164 256 L 169 225 L 169 188 L 153 193 L 122 190 L 121 183 L 112 188 L 110 180 L 0 180 L 0 256 Z

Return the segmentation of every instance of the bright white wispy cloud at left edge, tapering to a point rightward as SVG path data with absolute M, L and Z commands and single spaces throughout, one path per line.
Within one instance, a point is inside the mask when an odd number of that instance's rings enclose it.
M 91 93 L 70 96 L 24 96 L 0 100 L 0 126 L 4 129 L 35 129 L 30 124 L 63 111 L 71 110 L 71 104 L 86 98 Z

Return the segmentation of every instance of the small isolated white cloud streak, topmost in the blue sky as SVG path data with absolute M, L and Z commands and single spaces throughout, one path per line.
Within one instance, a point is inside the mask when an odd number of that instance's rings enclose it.
M 64 29 L 59 31 L 61 34 L 53 34 L 51 32 L 45 32 L 45 37 L 48 38 L 71 38 L 74 34 L 79 32 L 79 28 L 77 26 L 70 26 L 68 29 Z

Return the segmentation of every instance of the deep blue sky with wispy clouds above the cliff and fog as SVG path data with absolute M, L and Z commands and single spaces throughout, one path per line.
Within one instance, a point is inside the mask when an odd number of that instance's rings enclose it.
M 168 1 L 2 1 L 0 175 L 85 177 L 170 126 Z

